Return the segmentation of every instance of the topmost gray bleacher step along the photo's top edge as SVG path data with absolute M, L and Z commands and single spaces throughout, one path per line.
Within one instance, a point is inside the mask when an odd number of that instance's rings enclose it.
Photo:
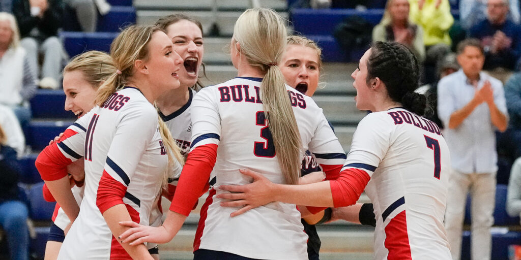
M 134 0 L 133 6 L 138 10 L 212 10 L 214 0 Z M 258 1 L 263 7 L 271 7 L 277 11 L 287 9 L 287 1 L 262 0 Z M 217 9 L 222 11 L 244 10 L 251 8 L 251 0 L 217 0 Z

